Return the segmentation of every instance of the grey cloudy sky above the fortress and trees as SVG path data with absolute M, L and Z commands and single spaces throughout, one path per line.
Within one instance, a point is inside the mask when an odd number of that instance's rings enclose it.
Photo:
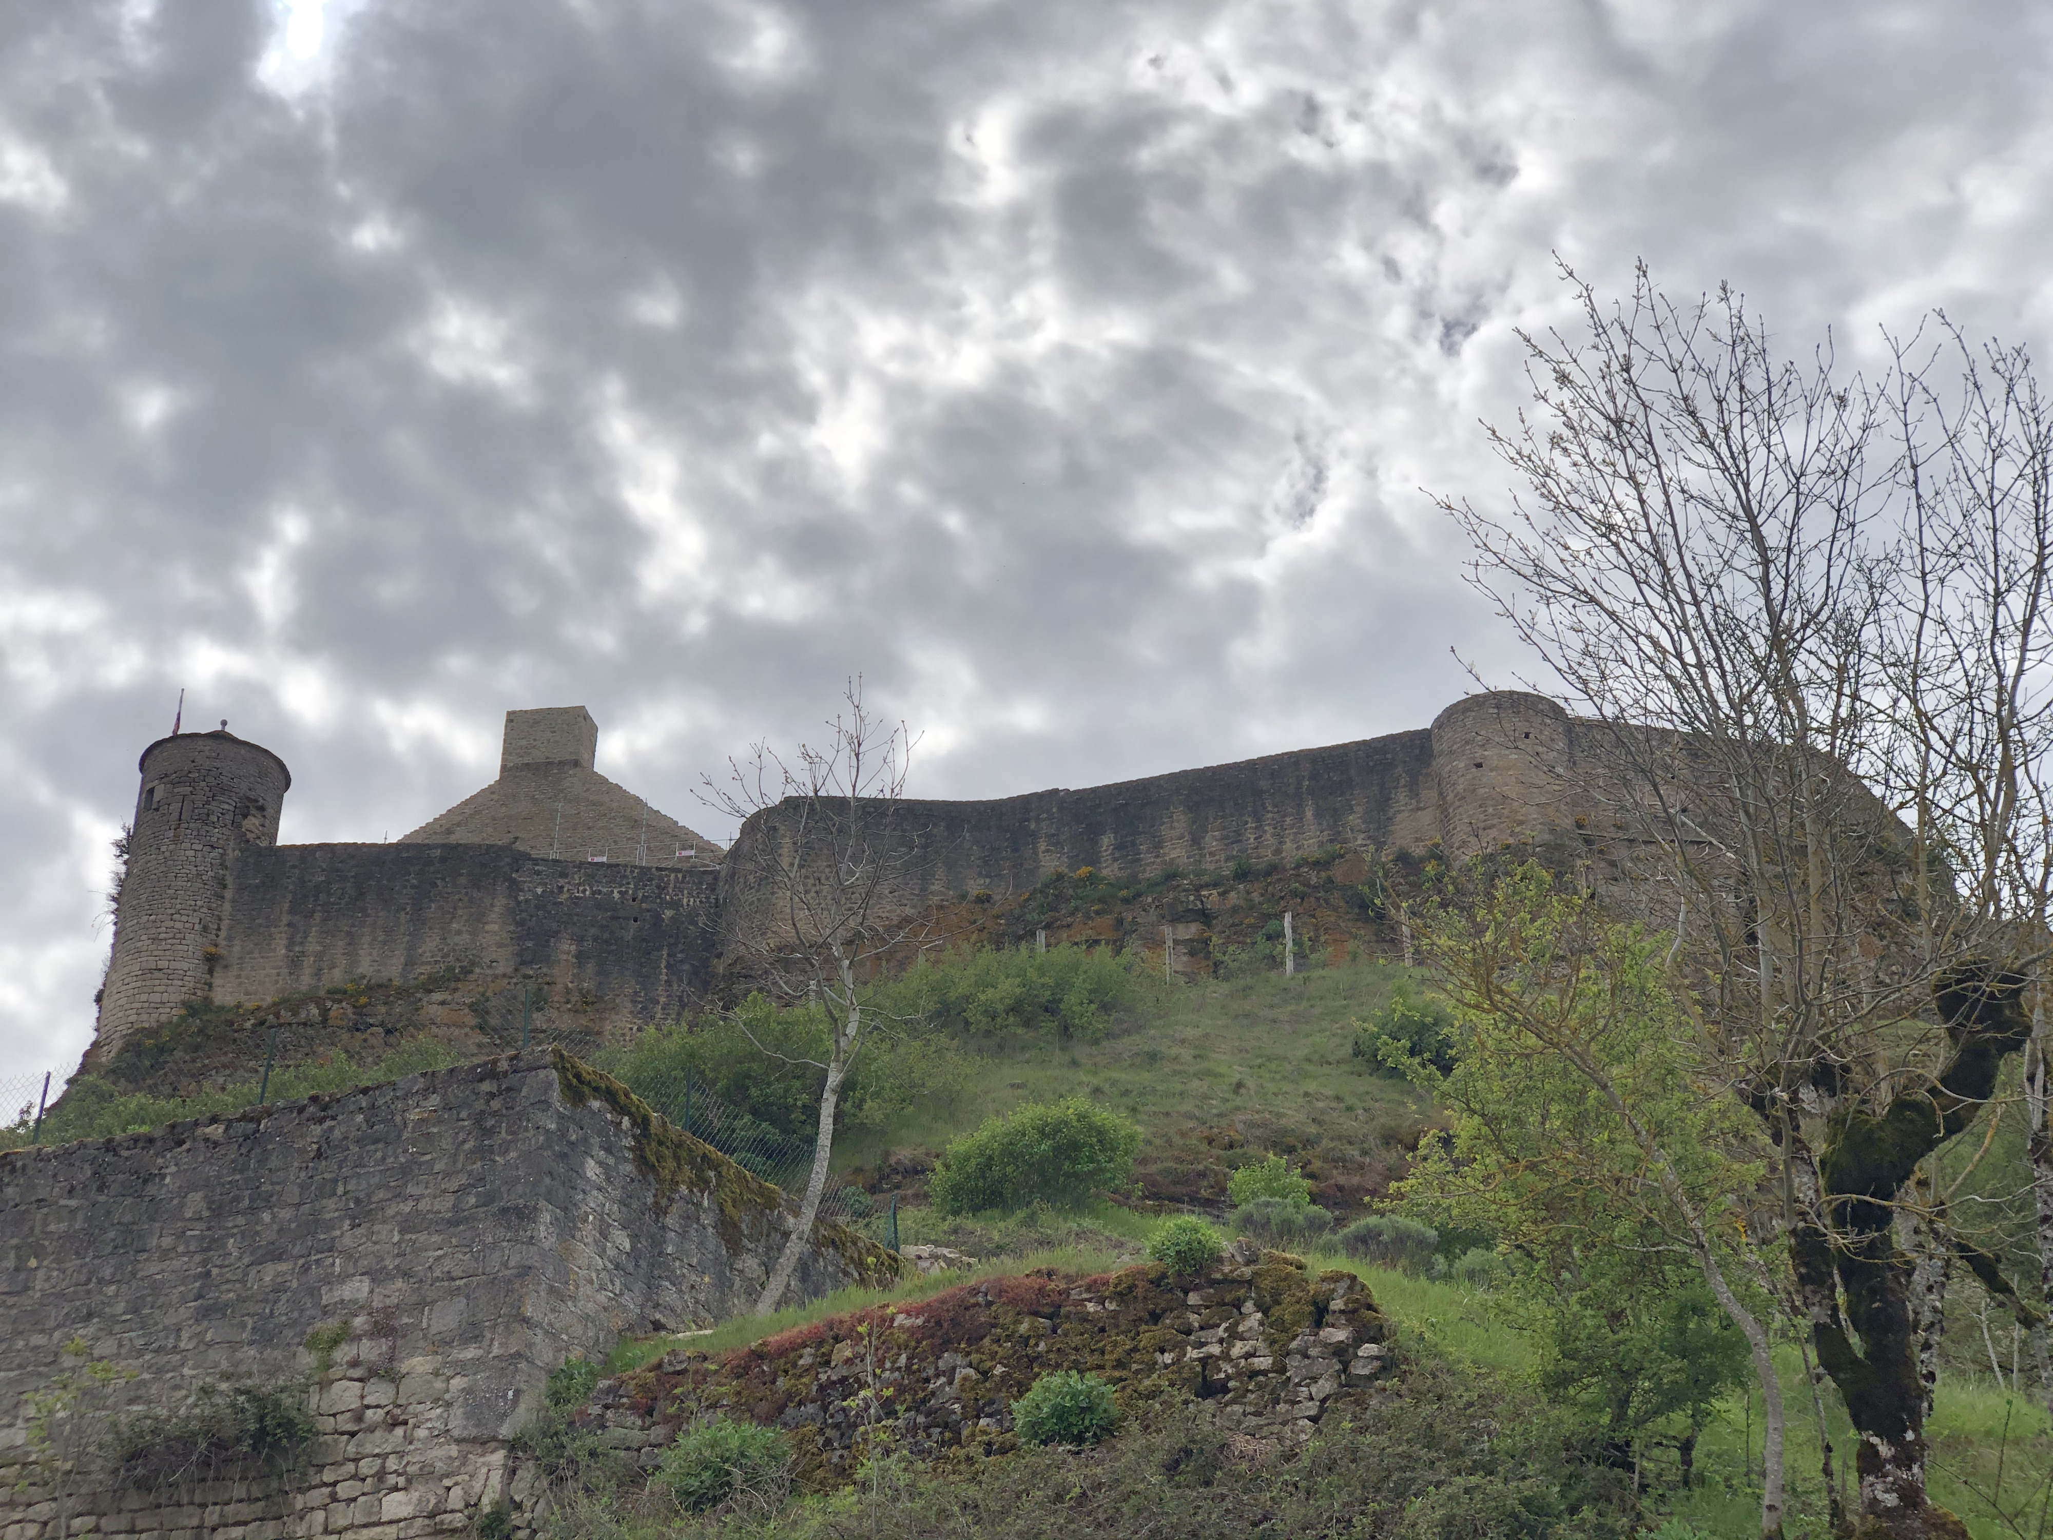
M 1515 326 L 2053 316 L 2043 4 L 0 2 L 0 1080 L 135 754 L 400 834 L 583 702 L 686 823 L 860 671 L 914 788 L 1425 725 L 1521 659 Z

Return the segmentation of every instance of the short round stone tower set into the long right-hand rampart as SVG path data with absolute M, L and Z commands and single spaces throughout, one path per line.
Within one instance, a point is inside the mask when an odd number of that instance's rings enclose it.
M 1449 860 L 1573 823 L 1568 713 L 1546 696 L 1490 690 L 1433 719 L 1439 838 Z

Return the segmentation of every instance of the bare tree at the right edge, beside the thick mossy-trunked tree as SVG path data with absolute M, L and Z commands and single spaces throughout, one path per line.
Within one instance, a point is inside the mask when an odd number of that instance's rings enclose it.
M 2037 1304 L 2010 1304 L 2030 1326 L 2053 1407 L 2043 1310 L 2053 1304 L 2053 402 L 2022 349 L 1977 349 L 1944 316 L 1936 329 L 1932 351 L 1915 339 L 1895 347 L 1887 388 L 1907 530 L 1905 602 L 1889 612 L 1883 657 L 1901 721 L 1872 776 L 1915 807 L 1920 885 L 1950 877 L 2026 984 L 2039 1287 Z M 1940 359 L 1957 372 L 1944 392 L 1928 384 Z

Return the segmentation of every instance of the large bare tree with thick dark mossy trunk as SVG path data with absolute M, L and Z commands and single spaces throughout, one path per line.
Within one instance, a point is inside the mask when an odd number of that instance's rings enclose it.
M 1957 1534 L 1926 1501 L 1952 1250 L 1918 1179 L 2026 1033 L 2010 936 L 1948 838 L 1856 774 L 1903 764 L 1915 721 L 1883 645 L 1903 608 L 1893 396 L 1829 347 L 1776 359 L 1729 290 L 1675 306 L 1640 269 L 1605 310 L 1566 277 L 1587 337 L 1523 337 L 1536 411 L 1490 431 L 1529 499 L 1441 507 L 1587 713 L 1589 881 L 1675 928 L 1706 1068 L 1772 1140 L 1759 1238 L 1846 1400 L 1864 1517 Z

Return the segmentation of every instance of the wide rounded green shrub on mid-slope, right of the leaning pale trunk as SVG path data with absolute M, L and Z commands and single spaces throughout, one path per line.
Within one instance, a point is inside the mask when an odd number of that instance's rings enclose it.
M 951 1144 L 928 1197 L 942 1214 L 1082 1207 L 1094 1191 L 1131 1185 L 1139 1144 L 1139 1127 L 1082 1096 L 1020 1107 Z

